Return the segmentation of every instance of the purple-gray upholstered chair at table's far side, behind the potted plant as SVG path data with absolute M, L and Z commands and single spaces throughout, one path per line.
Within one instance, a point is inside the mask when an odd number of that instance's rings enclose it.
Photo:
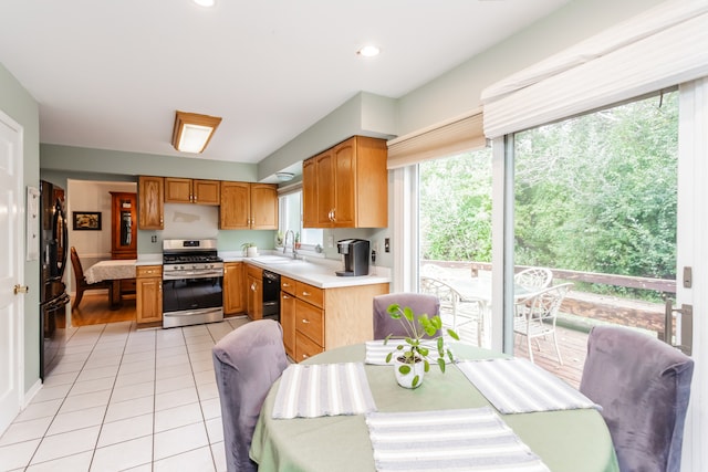
M 388 305 L 397 303 L 402 308 L 409 306 L 416 314 L 416 319 L 424 313 L 435 316 L 440 311 L 440 301 L 435 295 L 423 293 L 389 293 L 374 297 L 374 339 L 384 339 L 389 334 L 394 337 L 406 336 L 406 331 L 398 319 L 388 315 Z M 424 336 L 429 338 L 430 336 Z

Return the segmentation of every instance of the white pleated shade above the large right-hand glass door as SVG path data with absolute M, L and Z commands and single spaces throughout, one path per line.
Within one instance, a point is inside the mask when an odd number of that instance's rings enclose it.
M 708 76 L 708 1 L 670 0 L 482 91 L 494 138 Z

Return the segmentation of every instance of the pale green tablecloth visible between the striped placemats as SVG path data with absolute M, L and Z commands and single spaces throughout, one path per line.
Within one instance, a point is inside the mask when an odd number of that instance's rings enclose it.
M 468 345 L 455 347 L 464 359 L 501 357 Z M 327 350 L 309 364 L 364 361 L 364 345 Z M 366 365 L 366 376 L 378 411 L 479 408 L 487 399 L 456 367 L 441 374 L 435 366 L 423 386 L 406 390 L 396 384 L 393 367 Z M 256 426 L 251 458 L 262 471 L 374 471 L 368 429 L 363 416 L 274 420 L 271 418 L 278 382 L 273 385 Z M 493 408 L 493 407 L 492 407 Z M 501 415 L 503 421 L 552 471 L 618 471 L 610 431 L 596 410 L 566 410 Z

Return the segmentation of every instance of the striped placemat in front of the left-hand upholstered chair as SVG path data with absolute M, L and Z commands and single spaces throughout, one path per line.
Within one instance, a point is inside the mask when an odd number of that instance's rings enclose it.
M 362 363 L 289 366 L 280 379 L 273 418 L 315 418 L 376 411 Z

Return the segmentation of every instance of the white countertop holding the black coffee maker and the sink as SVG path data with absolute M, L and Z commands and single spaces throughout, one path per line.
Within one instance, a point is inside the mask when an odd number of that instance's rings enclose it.
M 339 276 L 335 271 L 343 269 L 341 261 L 331 259 L 293 260 L 292 256 L 279 256 L 261 254 L 256 258 L 220 253 L 223 262 L 248 262 L 261 269 L 267 269 L 277 274 L 309 283 L 320 289 L 335 289 L 343 286 L 372 285 L 391 283 L 391 273 L 387 268 L 369 266 L 368 275 Z

